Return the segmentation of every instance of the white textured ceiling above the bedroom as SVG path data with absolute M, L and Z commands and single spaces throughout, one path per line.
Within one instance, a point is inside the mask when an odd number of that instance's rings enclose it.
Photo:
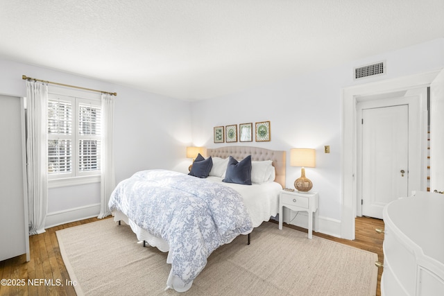
M 444 0 L 0 0 L 0 58 L 186 100 L 438 37 Z

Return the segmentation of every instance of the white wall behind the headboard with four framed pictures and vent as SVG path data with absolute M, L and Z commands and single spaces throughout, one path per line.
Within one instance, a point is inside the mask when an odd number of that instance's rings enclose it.
M 385 60 L 384 76 L 353 80 L 353 67 Z M 444 38 L 388 52 L 325 71 L 307 73 L 244 92 L 192 103 L 193 142 L 207 148 L 228 145 L 213 142 L 213 128 L 271 121 L 271 141 L 235 143 L 287 151 L 287 187 L 300 176 L 289 166 L 291 148 L 316 148 L 316 168 L 305 168 L 320 197 L 319 214 L 325 232 L 340 236 L 341 223 L 341 91 L 344 87 L 409 76 L 444 67 Z M 330 154 L 324 146 L 330 145 Z M 343 157 L 348 157 L 344 155 Z M 330 227 L 328 223 L 334 223 Z M 322 224 L 320 225 L 322 227 Z M 321 228 L 322 232 L 322 228 Z

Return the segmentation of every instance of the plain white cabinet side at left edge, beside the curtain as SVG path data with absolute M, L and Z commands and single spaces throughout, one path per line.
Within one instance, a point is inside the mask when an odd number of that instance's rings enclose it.
M 29 260 L 23 98 L 0 95 L 0 261 Z

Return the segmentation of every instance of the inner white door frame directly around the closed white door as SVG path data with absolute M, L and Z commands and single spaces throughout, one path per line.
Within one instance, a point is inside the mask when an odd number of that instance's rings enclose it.
M 386 98 L 384 98 L 386 96 Z M 422 97 L 426 98 L 427 89 L 421 87 L 420 89 L 412 89 L 407 92 L 397 92 L 395 94 L 384 94 L 382 98 L 374 98 L 373 96 L 357 97 L 357 216 L 362 216 L 362 204 L 359 202 L 362 198 L 362 129 L 360 119 L 362 118 L 362 111 L 366 109 L 373 109 L 378 107 L 393 107 L 400 105 L 408 106 L 409 116 L 409 154 L 408 154 L 408 172 L 407 172 L 407 192 L 411 193 L 413 190 L 422 190 L 425 186 L 425 179 L 422 180 L 422 167 L 425 165 L 425 158 L 418 158 L 422 155 L 422 147 L 420 143 L 424 143 L 421 136 L 420 128 L 423 128 L 420 122 L 420 101 Z M 426 106 L 427 107 L 427 106 Z M 426 140 L 427 141 L 427 140 Z M 427 142 L 426 142 L 427 143 Z M 423 182 L 422 182 L 423 181 Z M 401 197 L 401 196 L 400 196 Z

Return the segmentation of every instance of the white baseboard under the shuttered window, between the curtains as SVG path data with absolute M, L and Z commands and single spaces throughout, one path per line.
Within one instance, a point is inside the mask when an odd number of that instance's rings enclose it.
M 88 204 L 84 207 L 76 207 L 73 209 L 66 209 L 63 211 L 53 211 L 46 214 L 46 221 L 44 228 L 51 228 L 54 226 L 71 223 L 78 220 L 97 217 L 100 214 L 100 204 Z

